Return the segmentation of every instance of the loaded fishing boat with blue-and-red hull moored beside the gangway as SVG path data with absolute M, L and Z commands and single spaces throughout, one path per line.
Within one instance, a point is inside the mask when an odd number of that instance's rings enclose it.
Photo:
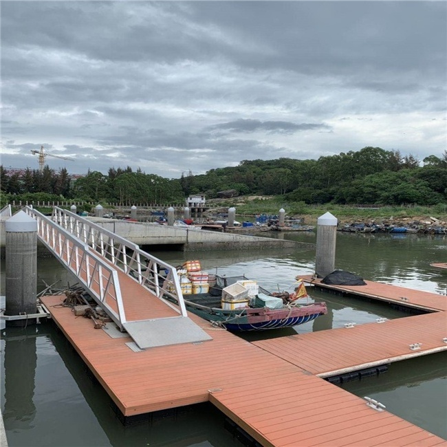
M 197 283 L 198 276 L 201 276 L 199 281 L 205 281 L 207 275 L 195 272 L 196 279 L 189 275 L 191 283 L 181 281 L 186 309 L 228 331 L 260 331 L 302 325 L 327 314 L 325 303 L 303 303 L 301 298 L 306 298 L 307 292 L 302 281 L 292 294 L 276 294 L 259 287 L 246 276 L 212 275 L 212 281 Z M 201 293 L 190 293 L 191 289 Z

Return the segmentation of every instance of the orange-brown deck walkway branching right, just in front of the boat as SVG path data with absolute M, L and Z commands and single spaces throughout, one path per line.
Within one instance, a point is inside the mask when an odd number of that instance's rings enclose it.
M 436 312 L 253 344 L 324 378 L 447 351 L 446 328 L 447 313 Z M 419 349 L 411 349 L 415 343 Z

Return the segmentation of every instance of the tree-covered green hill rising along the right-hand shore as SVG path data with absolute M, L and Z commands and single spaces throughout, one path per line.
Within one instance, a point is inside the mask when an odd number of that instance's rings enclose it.
M 281 195 L 305 204 L 419 204 L 447 201 L 447 151 L 430 155 L 424 166 L 413 155 L 364 147 L 318 160 L 244 160 L 236 167 L 182 177 L 186 194 L 217 197 L 220 190 L 241 195 Z

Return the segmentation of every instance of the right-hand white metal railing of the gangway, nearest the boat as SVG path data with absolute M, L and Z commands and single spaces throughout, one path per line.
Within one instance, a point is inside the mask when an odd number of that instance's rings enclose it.
M 74 212 L 54 206 L 52 220 L 101 254 L 113 266 L 150 290 L 158 298 L 173 298 L 177 307 L 165 301 L 176 312 L 187 316 L 177 270 L 161 259 L 144 252 L 137 244 L 102 228 Z M 166 276 L 162 273 L 165 272 Z

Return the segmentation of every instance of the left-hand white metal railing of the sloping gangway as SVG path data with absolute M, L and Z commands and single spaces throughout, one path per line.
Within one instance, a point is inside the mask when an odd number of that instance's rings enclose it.
M 124 330 L 124 323 L 127 323 L 127 320 L 116 269 L 49 217 L 30 206 L 25 206 L 22 209 L 30 217 L 36 219 L 39 239 L 55 255 L 56 259 L 63 263 L 65 268 L 76 275 L 80 283 L 120 330 Z M 111 303 L 116 309 L 111 307 Z

